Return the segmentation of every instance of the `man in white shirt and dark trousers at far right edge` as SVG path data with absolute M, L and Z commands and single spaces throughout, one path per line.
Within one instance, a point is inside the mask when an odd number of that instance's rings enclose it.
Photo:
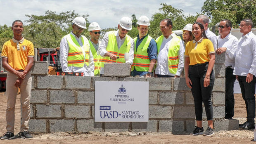
M 245 130 L 255 127 L 256 35 L 252 33 L 252 27 L 251 19 L 243 19 L 240 23 L 239 28 L 243 35 L 237 45 L 233 73 L 239 82 L 246 105 L 247 121 L 239 124 L 239 127 Z

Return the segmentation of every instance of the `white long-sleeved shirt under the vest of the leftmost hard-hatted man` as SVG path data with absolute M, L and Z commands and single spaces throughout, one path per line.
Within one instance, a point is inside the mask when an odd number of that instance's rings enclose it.
M 83 46 L 83 42 L 82 42 L 82 36 L 80 36 L 79 38 L 73 34 L 73 32 L 70 32 L 71 35 L 73 35 L 77 42 L 79 43 L 79 45 L 82 47 Z M 69 34 L 68 34 L 69 35 Z M 65 35 L 62 40 L 60 41 L 60 46 L 59 46 L 59 52 L 60 52 L 60 64 L 62 66 L 62 71 L 64 72 L 78 72 L 78 73 L 84 73 L 84 76 L 94 76 L 94 62 L 93 62 L 93 55 L 91 50 L 89 50 L 89 66 L 86 66 L 86 64 L 84 64 L 84 67 L 76 67 L 76 66 L 68 66 L 68 61 L 67 58 L 69 56 L 69 44 L 68 41 L 66 39 Z M 85 52 L 83 52 L 83 57 L 85 59 Z

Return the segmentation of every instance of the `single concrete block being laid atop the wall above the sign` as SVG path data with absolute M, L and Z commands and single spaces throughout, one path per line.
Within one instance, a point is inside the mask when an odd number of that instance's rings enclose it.
M 105 63 L 104 76 L 130 76 L 130 64 Z

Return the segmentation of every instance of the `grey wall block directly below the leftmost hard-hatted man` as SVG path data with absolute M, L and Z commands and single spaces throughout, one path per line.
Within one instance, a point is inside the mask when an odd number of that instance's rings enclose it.
M 65 76 L 66 89 L 90 89 L 91 77 L 90 76 Z

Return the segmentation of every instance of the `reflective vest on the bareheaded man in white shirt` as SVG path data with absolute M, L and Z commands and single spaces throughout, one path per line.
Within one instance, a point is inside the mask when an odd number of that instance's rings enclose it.
M 159 53 L 160 47 L 162 45 L 164 35 L 161 35 L 157 40 L 157 54 Z M 171 39 L 169 50 L 168 50 L 168 66 L 170 73 L 176 74 L 179 64 L 178 52 L 180 50 L 181 38 L 175 33 L 173 33 L 173 38 Z

